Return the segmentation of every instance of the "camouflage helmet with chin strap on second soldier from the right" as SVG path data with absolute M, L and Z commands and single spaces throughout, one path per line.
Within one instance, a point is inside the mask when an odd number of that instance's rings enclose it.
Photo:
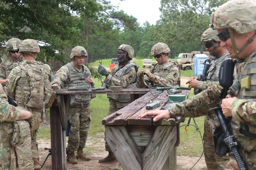
M 212 44 L 212 49 L 213 49 L 213 53 L 210 54 L 211 56 L 216 56 L 216 48 L 219 48 L 220 46 L 214 46 L 214 43 L 215 42 L 219 42 L 220 39 L 219 37 L 217 36 L 218 34 L 218 31 L 217 30 L 214 30 L 212 28 L 208 28 L 204 33 L 202 33 L 201 35 L 201 38 L 200 38 L 200 41 L 202 43 L 206 43 L 206 42 L 211 42 Z

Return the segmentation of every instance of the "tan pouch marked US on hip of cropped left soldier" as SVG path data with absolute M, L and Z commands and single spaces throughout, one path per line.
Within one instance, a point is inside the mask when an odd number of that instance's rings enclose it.
M 27 121 L 25 120 L 14 121 L 13 136 L 11 139 L 11 144 L 13 146 L 22 144 L 29 134 L 30 134 L 30 126 Z

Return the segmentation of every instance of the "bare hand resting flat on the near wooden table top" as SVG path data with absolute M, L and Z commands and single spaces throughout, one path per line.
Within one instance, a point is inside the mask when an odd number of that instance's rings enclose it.
M 160 119 L 169 119 L 172 117 L 172 113 L 169 110 L 153 110 L 148 111 L 142 115 L 140 115 L 140 118 L 146 117 L 146 116 L 156 116 L 154 117 L 153 121 L 156 122 Z

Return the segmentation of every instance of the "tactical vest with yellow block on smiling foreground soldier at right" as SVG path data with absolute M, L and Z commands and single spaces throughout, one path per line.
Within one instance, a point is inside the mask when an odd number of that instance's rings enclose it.
M 234 71 L 234 83 L 237 82 L 237 78 L 239 83 L 241 84 L 241 79 L 250 77 L 250 89 L 239 89 L 235 91 L 234 96 L 239 99 L 256 99 L 256 51 L 248 58 L 246 62 L 236 63 Z M 241 71 L 239 71 L 241 70 Z M 238 76 L 239 75 L 239 76 Z M 234 84 L 233 83 L 233 84 Z M 251 149 L 256 149 L 256 139 L 246 136 L 241 133 L 240 129 L 244 129 L 250 133 L 256 135 L 256 125 L 250 124 L 248 122 L 239 122 L 234 119 L 231 120 L 231 126 L 233 130 L 233 134 L 236 137 L 236 141 L 240 143 L 245 151 L 250 151 Z

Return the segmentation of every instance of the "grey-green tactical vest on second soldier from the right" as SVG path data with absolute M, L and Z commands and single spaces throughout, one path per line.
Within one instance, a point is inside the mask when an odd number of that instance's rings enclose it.
M 207 82 L 217 82 L 219 80 L 219 70 L 222 62 L 229 58 L 229 53 L 221 56 L 217 60 L 211 61 L 211 66 L 208 69 L 208 75 L 206 77 Z

